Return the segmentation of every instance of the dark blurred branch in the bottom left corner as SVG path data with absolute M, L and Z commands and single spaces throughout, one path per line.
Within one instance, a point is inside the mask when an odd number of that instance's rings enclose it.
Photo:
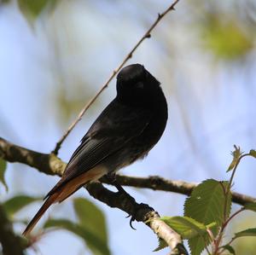
M 3 206 L 0 205 L 0 242 L 4 255 L 24 255 L 20 237 L 16 236 Z

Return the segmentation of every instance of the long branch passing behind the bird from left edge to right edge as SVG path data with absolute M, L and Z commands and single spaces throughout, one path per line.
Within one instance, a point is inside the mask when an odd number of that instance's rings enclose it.
M 22 148 L 0 137 L 0 158 L 9 162 L 19 162 L 30 165 L 40 172 L 47 175 L 58 175 L 61 177 L 65 170 L 66 163 L 57 158 L 54 154 L 41 154 L 27 148 Z M 106 178 L 101 179 L 102 183 L 108 183 Z M 136 188 L 150 188 L 153 190 L 169 191 L 178 194 L 191 194 L 195 183 L 187 183 L 183 181 L 166 180 L 162 177 L 127 177 L 117 176 L 120 185 Z M 243 206 L 246 203 L 255 202 L 256 199 L 245 195 L 232 192 L 232 201 Z

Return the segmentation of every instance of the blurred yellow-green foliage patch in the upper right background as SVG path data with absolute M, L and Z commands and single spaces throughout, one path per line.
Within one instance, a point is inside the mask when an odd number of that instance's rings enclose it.
M 201 40 L 219 60 L 236 61 L 253 49 L 254 33 L 230 13 L 206 13 L 201 26 Z

